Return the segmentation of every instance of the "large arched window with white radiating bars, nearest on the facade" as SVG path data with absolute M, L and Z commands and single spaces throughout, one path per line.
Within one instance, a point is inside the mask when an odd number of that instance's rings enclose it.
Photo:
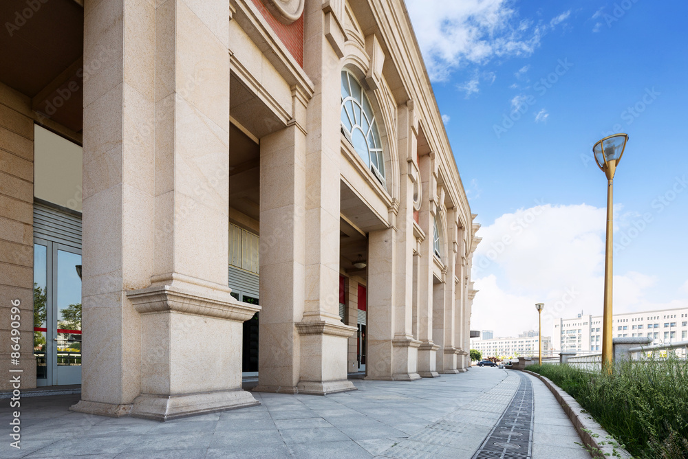
M 361 84 L 346 70 L 342 71 L 341 121 L 356 153 L 385 185 L 385 157 L 376 117 Z

